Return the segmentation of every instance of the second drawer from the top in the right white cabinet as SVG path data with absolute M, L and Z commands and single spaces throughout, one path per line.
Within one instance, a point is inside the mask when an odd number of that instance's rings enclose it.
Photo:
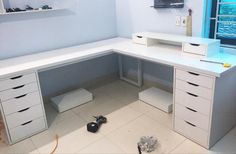
M 201 87 L 191 82 L 176 79 L 176 88 L 208 100 L 212 99 L 212 89 Z

